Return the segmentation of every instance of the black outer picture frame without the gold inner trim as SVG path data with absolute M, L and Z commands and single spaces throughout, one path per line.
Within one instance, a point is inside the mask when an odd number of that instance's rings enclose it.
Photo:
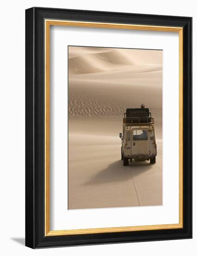
M 183 228 L 45 236 L 44 20 L 183 27 Z M 173 103 L 172 103 L 173 104 Z M 26 246 L 130 243 L 192 237 L 192 18 L 33 7 L 26 10 Z

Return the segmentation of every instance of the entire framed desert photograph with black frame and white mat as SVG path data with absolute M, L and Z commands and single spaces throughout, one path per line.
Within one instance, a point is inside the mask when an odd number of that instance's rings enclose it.
M 192 18 L 26 10 L 26 246 L 192 237 Z

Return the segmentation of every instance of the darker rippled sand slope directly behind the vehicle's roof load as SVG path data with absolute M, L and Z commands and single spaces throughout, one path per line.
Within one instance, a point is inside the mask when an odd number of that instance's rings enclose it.
M 93 84 L 93 85 L 92 85 Z M 131 86 L 121 84 L 116 88 L 100 82 L 71 81 L 69 83 L 70 118 L 123 117 L 126 108 L 138 108 L 141 103 L 150 108 L 154 117 L 162 117 L 162 88 L 154 89 L 155 98 L 151 101 L 152 90 L 144 84 Z M 150 85 L 151 88 L 151 85 Z

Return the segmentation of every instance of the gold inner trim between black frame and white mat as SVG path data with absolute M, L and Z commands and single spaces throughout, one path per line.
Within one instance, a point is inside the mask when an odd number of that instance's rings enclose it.
M 102 27 L 179 33 L 179 223 L 131 227 L 50 230 L 50 26 Z M 183 228 L 183 27 L 163 27 L 71 20 L 45 20 L 45 236 L 98 234 Z

